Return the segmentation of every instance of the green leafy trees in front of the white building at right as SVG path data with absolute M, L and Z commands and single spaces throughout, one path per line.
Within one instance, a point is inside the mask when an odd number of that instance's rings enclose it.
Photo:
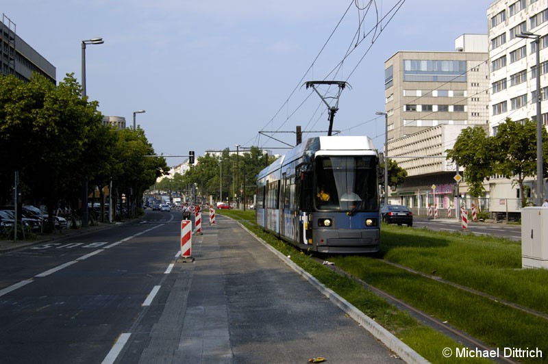
M 542 132 L 543 177 L 547 177 L 548 135 L 544 127 Z M 468 127 L 447 150 L 447 159 L 464 167 L 464 179 L 474 197 L 484 194 L 484 182 L 495 174 L 511 179 L 512 187 L 517 185 L 525 192 L 525 179 L 536 177 L 536 122 L 507 118 L 493 136 L 486 135 L 483 127 Z M 525 193 L 521 193 L 521 203 L 527 206 Z

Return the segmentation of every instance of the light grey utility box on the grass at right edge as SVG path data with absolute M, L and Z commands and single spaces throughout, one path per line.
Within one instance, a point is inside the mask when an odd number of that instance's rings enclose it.
M 521 209 L 521 265 L 548 269 L 548 207 Z

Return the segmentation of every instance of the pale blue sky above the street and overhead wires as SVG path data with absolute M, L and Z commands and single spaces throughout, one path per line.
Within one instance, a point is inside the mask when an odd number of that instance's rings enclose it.
M 158 154 L 193 150 L 198 156 L 236 150 L 236 144 L 240 150 L 256 145 L 281 154 L 282 142 L 295 144 L 295 134 L 287 132 L 297 125 L 310 131 L 303 138 L 326 135 L 317 132 L 328 129 L 327 107 L 302 87 L 323 79 L 351 86 L 340 96 L 334 130 L 369 135 L 382 149 L 384 117 L 375 112 L 384 111 L 384 62 L 397 51 L 453 51 L 461 34 L 486 34 L 489 5 L 481 0 L 19 0 L 4 3 L 0 12 L 57 68 L 58 81 L 66 73 L 81 81 L 82 40 L 103 38 L 104 44 L 86 48 L 90 99 L 99 101 L 104 115 L 125 117 L 127 125 L 134 111 L 145 109 L 137 124 Z M 394 7 L 397 12 L 390 12 Z M 321 92 L 333 96 L 325 87 Z M 260 131 L 286 133 L 270 134 L 278 142 Z M 167 162 L 174 166 L 184 159 Z

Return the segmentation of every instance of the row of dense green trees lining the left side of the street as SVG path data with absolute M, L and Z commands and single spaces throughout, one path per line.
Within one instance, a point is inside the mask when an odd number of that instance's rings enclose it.
M 0 77 L 0 203 L 13 203 L 18 172 L 23 203 L 81 209 L 83 181 L 92 192 L 112 185 L 129 203 L 168 168 L 142 129 L 103 125 L 97 101 L 82 97 L 73 74 L 57 86 L 34 75 Z M 130 205 L 125 209 L 135 213 Z

